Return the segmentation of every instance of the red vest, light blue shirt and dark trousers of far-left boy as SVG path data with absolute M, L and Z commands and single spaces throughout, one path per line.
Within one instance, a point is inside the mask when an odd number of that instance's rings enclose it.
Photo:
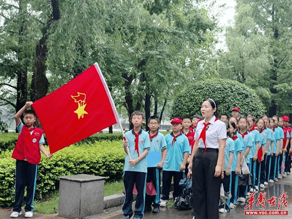
M 18 141 L 12 153 L 16 159 L 15 202 L 13 211 L 21 212 L 24 189 L 26 187 L 25 212 L 34 211 L 34 197 L 37 182 L 37 166 L 40 162 L 39 145 L 44 144 L 43 130 L 28 129 L 20 122 L 17 126 Z

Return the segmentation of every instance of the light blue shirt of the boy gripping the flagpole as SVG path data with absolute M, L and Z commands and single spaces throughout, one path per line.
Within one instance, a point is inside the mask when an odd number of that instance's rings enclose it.
M 134 130 L 129 130 L 126 132 L 126 139 L 128 140 L 128 148 L 130 151 L 131 159 L 135 160 L 138 158 L 138 153 L 135 150 L 135 135 L 133 134 Z M 149 134 L 148 132 L 144 130 L 140 130 L 141 134 L 139 135 L 139 154 L 144 152 L 144 150 L 150 150 L 150 139 L 149 139 Z M 135 171 L 135 172 L 147 172 L 147 160 L 146 157 L 143 158 L 141 161 L 139 161 L 137 164 L 134 165 L 134 168 L 130 166 L 129 164 L 129 156 L 128 154 L 126 155 L 125 158 L 125 166 L 124 166 L 124 171 Z

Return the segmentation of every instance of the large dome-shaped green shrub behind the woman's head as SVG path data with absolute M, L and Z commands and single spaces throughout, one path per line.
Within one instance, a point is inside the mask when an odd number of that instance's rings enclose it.
M 219 113 L 231 114 L 237 106 L 241 114 L 252 112 L 260 116 L 266 109 L 255 91 L 237 81 L 228 79 L 206 79 L 187 86 L 173 102 L 171 116 L 183 117 L 201 115 L 201 104 L 206 98 L 213 98 L 219 104 Z

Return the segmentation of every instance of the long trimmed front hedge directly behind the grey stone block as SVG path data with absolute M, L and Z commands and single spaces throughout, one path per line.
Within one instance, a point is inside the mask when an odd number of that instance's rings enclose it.
M 14 202 L 16 161 L 12 151 L 0 154 L 0 207 Z M 51 159 L 42 154 L 38 166 L 35 198 L 49 197 L 58 189 L 59 176 L 91 174 L 107 177 L 108 181 L 122 179 L 125 152 L 121 141 L 102 141 L 90 145 L 69 146 L 56 153 Z

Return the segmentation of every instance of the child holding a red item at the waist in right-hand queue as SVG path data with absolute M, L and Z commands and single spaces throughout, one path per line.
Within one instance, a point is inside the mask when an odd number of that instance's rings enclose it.
M 256 161 L 256 173 L 259 172 L 259 178 L 256 182 L 259 183 L 259 187 L 260 188 L 264 188 L 264 182 L 266 179 L 266 161 L 265 161 L 265 153 L 266 153 L 266 145 L 267 145 L 267 134 L 268 131 L 266 130 L 265 127 L 265 121 L 263 119 L 258 119 L 257 123 L 256 123 L 256 129 L 259 132 L 259 136 L 260 136 L 260 143 L 259 143 L 259 149 L 258 151 L 261 152 L 262 156 L 259 157 L 257 156 L 257 161 Z M 270 139 L 271 140 L 271 139 Z M 268 151 L 267 151 L 268 152 Z M 258 184 L 256 183 L 256 184 Z

